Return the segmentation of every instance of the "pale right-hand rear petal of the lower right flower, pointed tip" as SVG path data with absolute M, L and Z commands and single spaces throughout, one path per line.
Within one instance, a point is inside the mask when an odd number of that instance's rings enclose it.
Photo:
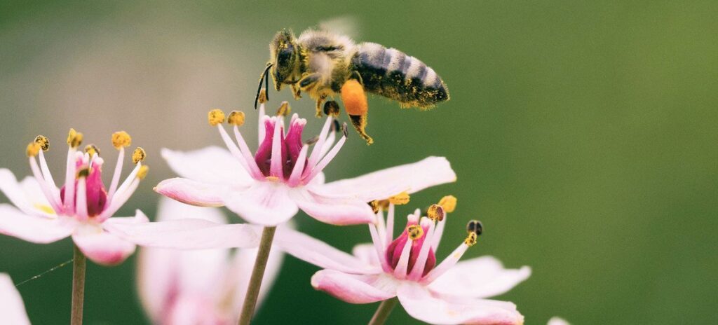
M 505 293 L 531 275 L 531 268 L 503 268 L 493 256 L 463 260 L 439 276 L 429 289 L 450 296 L 488 298 Z

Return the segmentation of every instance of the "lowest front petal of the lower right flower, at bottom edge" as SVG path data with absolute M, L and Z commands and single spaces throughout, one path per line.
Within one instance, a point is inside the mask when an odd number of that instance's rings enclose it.
M 396 291 L 406 313 L 429 324 L 523 324 L 516 305 L 485 299 L 448 299 L 419 283 L 405 281 Z

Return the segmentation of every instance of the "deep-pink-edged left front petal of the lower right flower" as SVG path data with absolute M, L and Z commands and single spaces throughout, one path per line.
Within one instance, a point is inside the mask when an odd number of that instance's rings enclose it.
M 373 303 L 396 296 L 398 281 L 386 273 L 357 275 L 337 270 L 320 270 L 312 286 L 348 303 Z

